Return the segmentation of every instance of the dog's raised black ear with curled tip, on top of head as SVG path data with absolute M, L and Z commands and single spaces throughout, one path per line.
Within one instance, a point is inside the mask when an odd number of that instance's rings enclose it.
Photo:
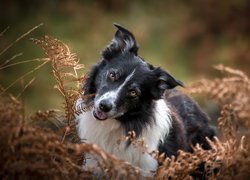
M 114 26 L 117 27 L 117 31 L 111 43 L 102 52 L 102 56 L 105 59 L 111 59 L 123 52 L 132 52 L 137 55 L 138 45 L 134 35 L 118 24 L 114 24 Z

